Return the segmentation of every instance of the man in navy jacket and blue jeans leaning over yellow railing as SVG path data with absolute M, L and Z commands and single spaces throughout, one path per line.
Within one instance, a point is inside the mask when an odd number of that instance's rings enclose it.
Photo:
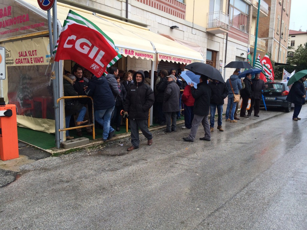
M 108 81 L 105 77 L 96 76 L 88 82 L 86 88 L 87 96 L 93 97 L 95 120 L 103 126 L 103 141 L 110 140 L 115 129 L 110 125 L 115 100 Z

